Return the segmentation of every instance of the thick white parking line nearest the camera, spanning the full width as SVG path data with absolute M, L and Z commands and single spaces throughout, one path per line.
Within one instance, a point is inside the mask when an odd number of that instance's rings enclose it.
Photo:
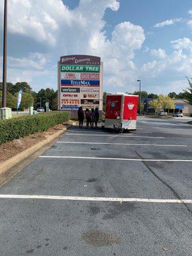
M 150 198 L 115 198 L 115 197 L 89 197 L 89 196 L 49 196 L 49 195 L 0 195 L 6 199 L 46 199 L 46 200 L 74 200 L 74 201 L 99 201 L 99 202 L 143 202 L 143 203 L 172 203 L 192 204 L 190 199 L 150 199 Z

